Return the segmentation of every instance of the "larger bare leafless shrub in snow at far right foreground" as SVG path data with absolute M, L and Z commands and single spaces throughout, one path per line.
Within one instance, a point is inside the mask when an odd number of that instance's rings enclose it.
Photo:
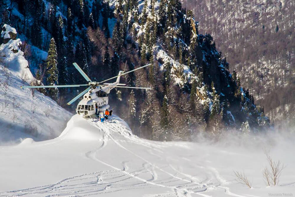
M 266 175 L 265 179 L 266 179 L 266 182 L 268 185 L 270 185 L 270 183 L 269 183 L 270 181 L 272 182 L 273 185 L 277 185 L 279 178 L 281 176 L 282 170 L 286 166 L 284 164 L 282 164 L 280 160 L 278 160 L 277 162 L 274 161 L 273 158 L 271 158 L 271 156 L 269 155 L 269 152 L 270 152 L 269 149 L 264 150 L 270 170 L 268 170 L 268 168 L 265 167 L 265 169 L 263 171 L 263 177 Z

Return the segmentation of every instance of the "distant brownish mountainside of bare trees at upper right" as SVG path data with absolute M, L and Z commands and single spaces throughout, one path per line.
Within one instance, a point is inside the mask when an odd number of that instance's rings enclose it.
M 182 2 L 275 126 L 294 130 L 294 1 Z

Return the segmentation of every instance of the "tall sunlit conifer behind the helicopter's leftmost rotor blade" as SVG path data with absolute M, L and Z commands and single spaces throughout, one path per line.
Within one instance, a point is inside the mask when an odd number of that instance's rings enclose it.
M 48 56 L 46 61 L 46 69 L 47 69 L 47 84 L 49 85 L 58 85 L 58 69 L 57 69 L 57 50 L 54 38 L 51 38 Z M 49 96 L 57 101 L 58 100 L 58 89 L 57 88 L 49 88 Z

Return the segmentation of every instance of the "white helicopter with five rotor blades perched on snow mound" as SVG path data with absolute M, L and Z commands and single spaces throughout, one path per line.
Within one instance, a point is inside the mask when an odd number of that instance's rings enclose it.
M 112 78 L 106 79 L 101 82 L 92 82 L 91 79 L 83 72 L 83 70 L 78 66 L 75 62 L 73 63 L 75 68 L 81 73 L 81 75 L 88 81 L 88 84 L 80 84 L 80 85 L 49 85 L 49 86 L 21 86 L 21 88 L 58 88 L 58 87 L 80 87 L 80 86 L 89 86 L 86 90 L 78 94 L 75 98 L 73 98 L 67 105 L 71 105 L 78 98 L 83 95 L 83 99 L 79 102 L 76 112 L 82 116 L 83 118 L 90 118 L 91 115 L 99 114 L 99 112 L 104 112 L 106 109 L 109 110 L 110 106 L 108 105 L 109 97 L 108 94 L 113 88 L 123 87 L 123 88 L 132 88 L 132 89 L 151 89 L 146 87 L 124 87 L 126 84 L 120 84 L 120 76 L 128 74 L 130 72 L 136 71 L 138 69 L 142 69 L 144 67 L 150 66 L 151 64 L 147 64 L 140 68 L 123 72 L 119 71 L 118 76 L 114 76 Z M 114 83 L 104 83 L 110 79 L 117 78 Z M 110 111 L 110 115 L 112 115 L 112 110 Z

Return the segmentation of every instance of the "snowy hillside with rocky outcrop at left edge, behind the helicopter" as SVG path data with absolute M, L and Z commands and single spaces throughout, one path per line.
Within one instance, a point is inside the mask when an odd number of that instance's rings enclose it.
M 36 141 L 58 137 L 71 113 L 36 90 L 21 89 L 35 83 L 24 58 L 17 31 L 4 25 L 0 45 L 0 144 Z

